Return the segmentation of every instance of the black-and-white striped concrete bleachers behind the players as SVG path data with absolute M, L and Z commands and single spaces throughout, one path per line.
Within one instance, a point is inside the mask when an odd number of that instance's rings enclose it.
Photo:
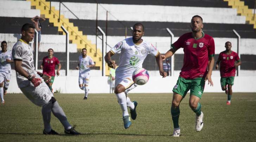
M 50 0 L 46 0 L 50 1 Z M 55 6 L 55 9 L 59 8 L 58 0 L 51 0 L 51 5 Z M 98 6 L 98 26 L 100 26 L 106 32 L 106 11 L 107 9 L 111 14 L 108 17 L 108 44 L 113 47 L 116 43 L 125 38 L 125 30 L 127 27 L 127 36 L 131 36 L 130 27 L 136 22 L 141 22 L 145 26 L 145 35 L 143 39 L 152 42 L 161 52 L 164 54 L 169 47 L 161 47 L 161 43 L 170 44 L 170 36 L 166 31 L 169 28 L 174 34 L 173 41 L 176 41 L 179 36 L 184 33 L 190 32 L 190 20 L 193 15 L 200 15 L 204 20 L 203 31 L 206 34 L 211 35 L 215 39 L 216 56 L 217 61 L 219 52 L 225 50 L 224 44 L 226 41 L 231 41 L 233 51 L 237 51 L 237 39 L 233 33 L 233 29 L 241 36 L 240 54 L 243 64 L 241 70 L 256 70 L 256 50 L 254 46 L 256 43 L 256 32 L 252 24 L 247 24 L 245 16 L 239 16 L 237 10 L 228 6 L 227 1 L 222 0 L 168 0 L 168 1 L 154 1 L 154 0 L 97 0 L 100 3 Z M 248 4 L 250 8 L 254 8 L 254 3 L 250 0 L 244 0 L 245 4 Z M 25 2 L 25 1 L 24 1 Z M 95 40 L 95 25 L 96 25 L 96 1 L 95 0 L 62 0 L 79 20 L 70 13 L 68 9 L 62 6 L 61 14 L 66 18 L 69 18 L 69 22 L 72 22 L 74 26 L 78 27 L 79 31 L 83 31 L 83 35 L 87 35 L 87 38 L 96 43 Z M 253 6 L 253 7 L 252 7 Z M 20 8 L 21 6 L 19 6 Z M 26 3 L 27 7 L 27 3 Z M 104 8 L 103 8 L 104 7 Z M 28 9 L 28 8 L 26 8 Z M 31 9 L 35 10 L 35 9 Z M 23 23 L 30 22 L 32 17 L 26 15 L 19 17 L 2 16 L 0 14 L 0 28 L 1 34 L 19 34 L 20 27 Z M 117 21 L 117 19 L 119 21 Z M 39 52 L 39 59 L 46 56 L 46 49 L 56 48 L 55 56 L 60 61 L 65 61 L 65 47 L 63 47 L 64 41 L 60 43 L 47 43 L 54 36 L 58 35 L 57 27 L 53 27 L 53 24 L 49 22 L 49 19 L 43 23 L 42 28 L 42 42 L 43 47 Z M 44 40 L 49 37 L 49 40 Z M 5 36 L 5 35 L 4 35 Z M 10 35 L 9 35 L 10 36 Z M 58 39 L 63 39 L 59 37 Z M 4 37 L 0 36 L 0 41 Z M 14 40 L 10 41 L 10 45 Z M 54 41 L 54 40 L 53 40 Z M 58 40 L 61 41 L 61 40 Z M 77 59 L 80 53 L 77 53 L 76 45 L 70 44 L 72 50 L 70 54 L 70 69 L 74 69 L 77 65 Z M 101 41 L 98 40 L 97 48 L 101 49 Z M 108 47 L 108 50 L 110 48 Z M 180 49 L 175 54 L 174 70 L 179 71 L 183 65 L 183 51 Z M 113 56 L 113 59 L 117 61 L 119 54 Z M 39 61 L 40 62 L 40 61 Z M 64 63 L 63 63 L 64 65 Z M 143 67 L 147 70 L 157 70 L 155 59 L 152 56 L 148 56 L 143 64 Z

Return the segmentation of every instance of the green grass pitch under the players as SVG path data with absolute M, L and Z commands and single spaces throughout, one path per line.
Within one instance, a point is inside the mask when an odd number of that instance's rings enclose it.
M 0 105 L 0 141 L 255 141 L 256 93 L 234 93 L 226 106 L 225 93 L 204 93 L 204 127 L 195 130 L 195 114 L 188 105 L 188 95 L 180 105 L 181 136 L 171 137 L 172 94 L 129 94 L 138 102 L 137 119 L 123 128 L 122 113 L 115 94 L 55 94 L 69 122 L 82 135 L 64 134 L 64 128 L 52 115 L 51 126 L 59 136 L 43 135 L 41 108 L 23 94 L 7 94 Z

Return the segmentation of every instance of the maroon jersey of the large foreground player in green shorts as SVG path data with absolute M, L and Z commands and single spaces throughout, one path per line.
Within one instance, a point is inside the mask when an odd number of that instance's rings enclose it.
M 202 32 L 203 33 L 203 32 Z M 194 79 L 207 75 L 207 65 L 210 57 L 215 55 L 215 44 L 211 36 L 204 34 L 195 39 L 192 33 L 186 33 L 172 44 L 175 49 L 183 48 L 184 59 L 180 77 Z

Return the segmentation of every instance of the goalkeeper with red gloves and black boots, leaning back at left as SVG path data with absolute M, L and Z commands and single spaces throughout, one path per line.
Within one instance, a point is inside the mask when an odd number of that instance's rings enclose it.
M 57 135 L 50 125 L 51 112 L 64 126 L 66 134 L 80 134 L 72 127 L 62 108 L 43 79 L 34 68 L 33 51 L 28 44 L 34 38 L 34 26 L 26 23 L 21 28 L 21 39 L 14 44 L 12 57 L 16 71 L 17 83 L 24 95 L 35 105 L 42 107 L 45 135 Z

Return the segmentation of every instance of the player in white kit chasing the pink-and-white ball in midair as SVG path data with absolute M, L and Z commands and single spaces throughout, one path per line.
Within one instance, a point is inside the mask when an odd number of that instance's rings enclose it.
M 130 108 L 130 114 L 133 120 L 136 119 L 136 101 L 130 101 L 127 96 L 128 91 L 135 88 L 137 85 L 132 80 L 132 74 L 136 68 L 142 68 L 142 63 L 148 54 L 155 56 L 160 75 L 166 77 L 167 73 L 163 71 L 162 57 L 158 50 L 150 43 L 141 39 L 144 34 L 144 26 L 141 23 L 136 23 L 133 26 L 133 37 L 126 38 L 125 40 L 117 43 L 104 57 L 106 63 L 110 68 L 114 68 L 114 62 L 111 56 L 120 52 L 119 67 L 116 69 L 115 77 L 115 93 L 117 100 L 123 112 L 124 128 L 130 127 L 130 121 L 127 107 Z

